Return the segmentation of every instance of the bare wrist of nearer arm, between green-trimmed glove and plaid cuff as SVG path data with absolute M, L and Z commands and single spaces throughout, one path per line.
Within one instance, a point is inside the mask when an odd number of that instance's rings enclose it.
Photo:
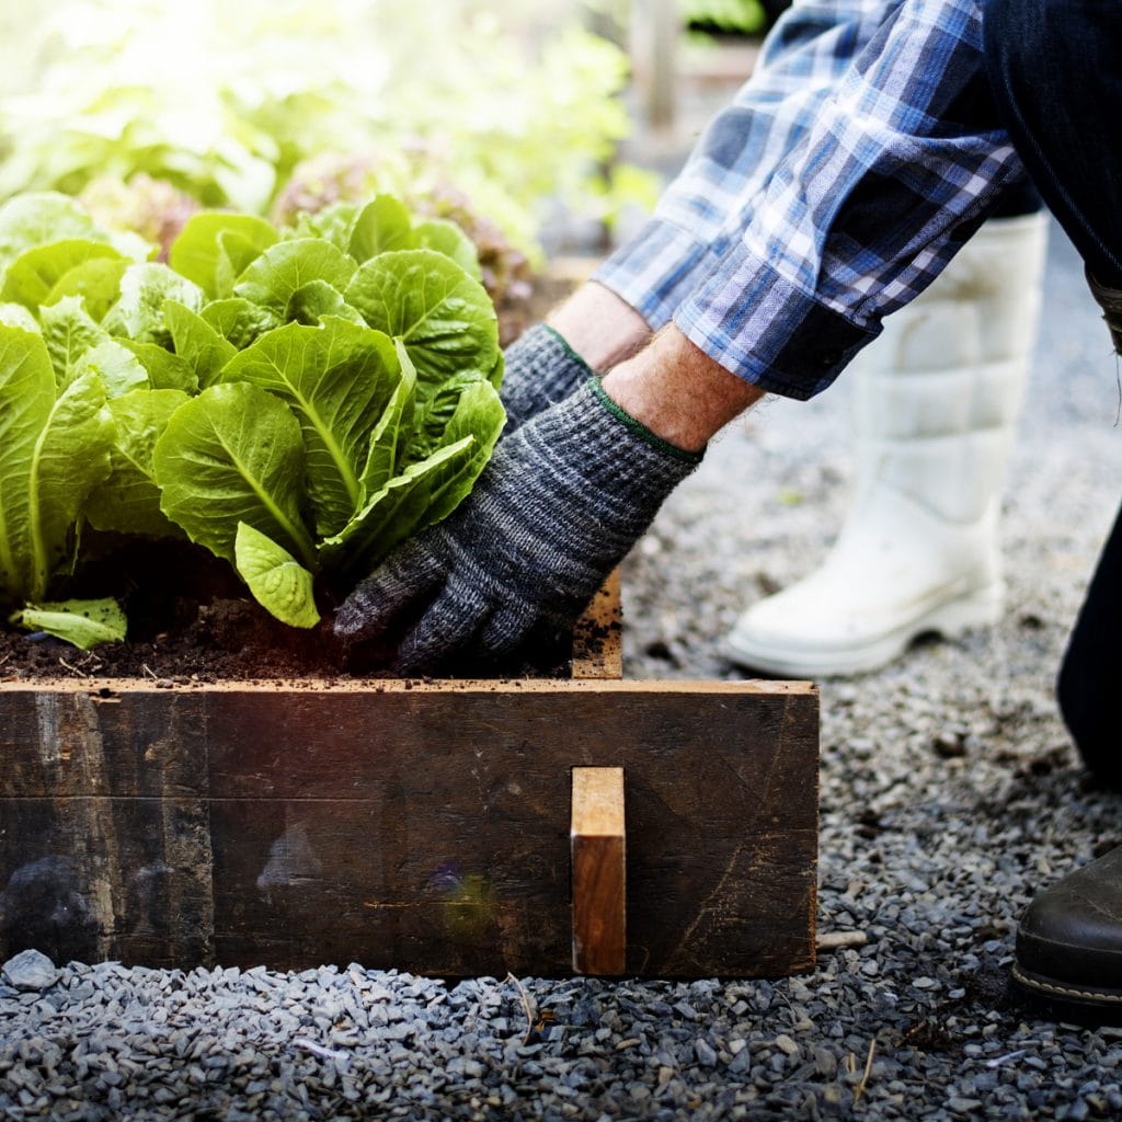
M 663 328 L 650 346 L 604 379 L 607 395 L 656 436 L 700 451 L 763 392 L 729 374 L 678 328 Z

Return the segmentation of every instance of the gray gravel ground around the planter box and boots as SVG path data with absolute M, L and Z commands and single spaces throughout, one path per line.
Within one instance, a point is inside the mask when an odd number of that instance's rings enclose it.
M 852 476 L 843 383 L 729 432 L 627 564 L 627 675 L 734 678 L 720 637 L 810 570 Z M 1122 1030 L 1006 991 L 1032 894 L 1122 842 L 1052 678 L 1122 478 L 1105 331 L 1061 236 L 1006 493 L 1000 626 L 822 693 L 810 976 L 477 978 L 71 964 L 0 978 L 4 1119 L 1122 1118 Z

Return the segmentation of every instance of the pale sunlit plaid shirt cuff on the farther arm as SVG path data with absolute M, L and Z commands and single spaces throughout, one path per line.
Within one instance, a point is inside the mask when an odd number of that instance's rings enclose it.
M 720 264 L 705 242 L 679 226 L 652 218 L 592 274 L 657 331 Z M 700 274 L 699 274 L 700 270 Z

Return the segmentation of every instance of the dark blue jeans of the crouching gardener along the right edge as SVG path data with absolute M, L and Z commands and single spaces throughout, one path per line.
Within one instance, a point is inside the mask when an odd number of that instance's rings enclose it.
M 1122 288 L 1122 0 L 984 3 L 990 84 L 1013 144 L 1091 275 Z M 1057 683 L 1060 712 L 1084 762 L 1122 788 L 1120 682 L 1122 511 Z

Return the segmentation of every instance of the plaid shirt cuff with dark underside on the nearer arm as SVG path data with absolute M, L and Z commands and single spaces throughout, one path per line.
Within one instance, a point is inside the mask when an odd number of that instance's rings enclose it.
M 737 243 L 674 314 L 714 361 L 765 393 L 821 393 L 881 332 L 861 328 L 797 288 Z

